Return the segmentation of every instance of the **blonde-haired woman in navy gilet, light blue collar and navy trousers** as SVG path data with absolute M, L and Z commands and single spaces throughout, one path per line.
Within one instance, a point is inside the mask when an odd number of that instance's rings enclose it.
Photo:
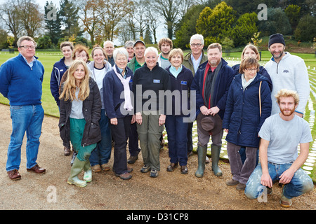
M 173 172 L 180 164 L 181 174 L 187 174 L 187 125 L 184 118 L 188 115 L 186 111 L 190 110 L 190 87 L 193 80 L 192 71 L 182 65 L 183 51 L 173 49 L 169 53 L 171 66 L 166 70 L 169 72 L 171 81 L 171 92 L 174 96 L 167 97 L 171 99 L 172 104 L 167 102 L 166 109 L 166 132 L 168 134 L 170 165 L 168 172 Z M 179 98 L 177 98 L 178 96 Z M 186 99 L 185 99 L 185 98 Z

